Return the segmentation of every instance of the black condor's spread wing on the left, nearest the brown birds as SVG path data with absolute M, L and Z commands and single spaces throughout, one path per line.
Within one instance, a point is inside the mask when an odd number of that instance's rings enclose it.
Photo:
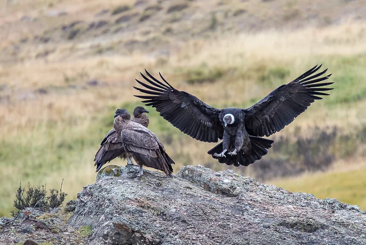
M 155 107 L 160 116 L 179 128 L 183 133 L 204 142 L 217 142 L 222 139 L 224 128 L 220 123 L 219 109 L 211 107 L 200 99 L 173 88 L 160 74 L 162 83 L 145 70 L 146 77 L 140 73 L 147 83 L 136 81 L 147 89 L 134 87 L 147 95 L 143 98 L 147 106 Z

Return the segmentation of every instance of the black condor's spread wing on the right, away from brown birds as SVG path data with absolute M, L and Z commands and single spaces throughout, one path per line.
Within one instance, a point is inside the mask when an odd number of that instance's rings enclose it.
M 331 74 L 322 76 L 327 69 L 316 73 L 320 67 L 313 67 L 292 82 L 279 86 L 252 107 L 244 109 L 245 126 L 249 134 L 270 136 L 294 121 L 316 99 L 322 99 L 319 96 L 329 95 L 322 91 L 332 90 L 324 86 L 333 82 L 321 81 L 328 79 Z

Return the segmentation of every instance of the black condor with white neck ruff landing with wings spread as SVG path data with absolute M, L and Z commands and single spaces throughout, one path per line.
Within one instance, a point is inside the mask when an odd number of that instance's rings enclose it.
M 175 89 L 160 74 L 161 82 L 146 70 L 147 83 L 136 81 L 146 89 L 137 88 L 147 95 L 138 95 L 147 106 L 155 107 L 160 116 L 183 133 L 204 142 L 221 142 L 207 153 L 220 163 L 248 166 L 268 153 L 273 141 L 260 138 L 280 131 L 304 112 L 319 96 L 332 90 L 322 82 L 327 69 L 317 73 L 315 66 L 288 84 L 272 91 L 268 96 L 247 109 L 211 107 L 197 97 Z M 226 155 L 227 154 L 227 155 Z

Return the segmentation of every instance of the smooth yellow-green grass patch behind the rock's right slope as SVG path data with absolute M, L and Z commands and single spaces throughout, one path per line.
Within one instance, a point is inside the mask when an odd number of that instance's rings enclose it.
M 366 168 L 324 172 L 286 180 L 269 181 L 291 192 L 311 193 L 318 198 L 337 198 L 366 210 Z

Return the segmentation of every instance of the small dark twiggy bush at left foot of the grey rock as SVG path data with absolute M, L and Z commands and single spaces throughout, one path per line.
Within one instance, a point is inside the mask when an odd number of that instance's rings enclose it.
M 19 188 L 15 194 L 14 207 L 15 211 L 11 211 L 11 215 L 16 217 L 20 211 L 25 208 L 36 208 L 46 211 L 49 208 L 57 208 L 61 206 L 65 197 L 68 195 L 62 191 L 61 182 L 60 191 L 56 189 L 50 189 L 49 196 L 47 196 L 46 184 L 42 186 L 30 186 L 28 182 L 28 190 L 22 187 L 22 182 L 19 183 Z

